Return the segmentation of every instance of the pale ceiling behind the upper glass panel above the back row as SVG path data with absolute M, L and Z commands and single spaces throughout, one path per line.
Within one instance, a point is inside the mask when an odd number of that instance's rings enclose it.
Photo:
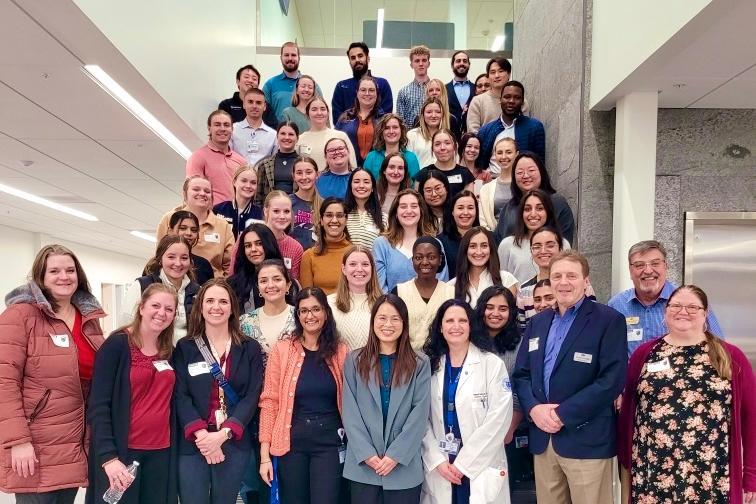
M 270 0 L 272 1 L 272 0 Z M 305 0 L 292 2 L 300 20 L 303 46 L 347 47 L 362 40 L 363 20 L 376 19 L 386 9 L 387 21 L 455 22 L 450 4 L 458 0 Z M 491 48 L 504 23 L 511 22 L 514 0 L 468 0 L 467 49 Z M 344 20 L 351 20 L 345 22 Z M 261 27 L 265 30 L 265 26 Z M 484 34 L 484 32 L 486 34 Z

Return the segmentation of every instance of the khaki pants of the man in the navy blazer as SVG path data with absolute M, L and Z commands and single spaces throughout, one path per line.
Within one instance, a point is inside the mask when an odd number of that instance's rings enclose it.
M 612 459 L 571 459 L 551 441 L 534 457 L 538 504 L 612 504 Z

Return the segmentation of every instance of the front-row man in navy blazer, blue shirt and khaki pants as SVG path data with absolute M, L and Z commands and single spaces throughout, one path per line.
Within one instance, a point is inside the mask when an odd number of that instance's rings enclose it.
M 625 383 L 625 318 L 585 297 L 588 261 L 568 250 L 549 278 L 557 301 L 530 320 L 513 374 L 531 420 L 539 503 L 612 502 L 614 400 Z

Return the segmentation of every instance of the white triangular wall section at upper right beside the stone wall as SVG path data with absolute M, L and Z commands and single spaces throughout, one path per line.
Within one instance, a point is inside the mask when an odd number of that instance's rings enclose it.
M 608 95 L 712 1 L 594 1 L 590 106 Z

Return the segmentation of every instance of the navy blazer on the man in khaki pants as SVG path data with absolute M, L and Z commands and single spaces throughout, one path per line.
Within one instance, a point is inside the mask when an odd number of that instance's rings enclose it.
M 530 451 L 543 453 L 551 439 L 563 457 L 611 458 L 617 454 L 614 400 L 627 373 L 625 317 L 606 305 L 583 302 L 557 355 L 547 398 L 543 358 L 553 318 L 554 311 L 546 310 L 530 319 L 513 374 L 523 411 L 559 404 L 556 412 L 564 423 L 548 434 L 531 422 Z

